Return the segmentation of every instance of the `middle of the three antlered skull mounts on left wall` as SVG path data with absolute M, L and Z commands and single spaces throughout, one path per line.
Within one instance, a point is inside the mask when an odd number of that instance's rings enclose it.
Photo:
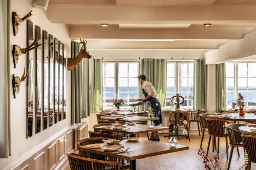
M 38 39 L 39 40 L 39 39 Z M 18 59 L 22 54 L 26 54 L 28 51 L 33 50 L 37 48 L 38 46 L 42 44 L 38 44 L 38 40 L 33 40 L 33 43 L 29 45 L 27 48 L 22 48 L 19 45 L 13 45 L 12 48 L 12 58 L 13 58 L 13 64 L 14 68 L 16 68 L 16 64 L 18 63 Z

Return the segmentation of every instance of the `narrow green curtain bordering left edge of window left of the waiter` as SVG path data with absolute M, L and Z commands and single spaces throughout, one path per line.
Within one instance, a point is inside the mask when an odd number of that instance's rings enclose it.
M 94 59 L 94 112 L 102 110 L 102 59 Z

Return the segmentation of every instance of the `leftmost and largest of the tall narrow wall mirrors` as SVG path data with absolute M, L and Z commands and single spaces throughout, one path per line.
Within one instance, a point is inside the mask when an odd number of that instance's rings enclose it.
M 33 43 L 34 39 L 34 29 L 33 22 L 27 20 L 27 46 Z M 27 53 L 27 67 L 28 67 L 28 77 L 27 77 L 27 138 L 31 137 L 33 134 L 33 103 L 34 103 L 34 51 L 29 51 Z

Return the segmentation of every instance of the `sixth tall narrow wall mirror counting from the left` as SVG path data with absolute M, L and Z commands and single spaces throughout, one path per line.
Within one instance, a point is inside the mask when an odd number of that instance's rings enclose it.
M 59 41 L 59 121 L 63 117 L 63 43 Z

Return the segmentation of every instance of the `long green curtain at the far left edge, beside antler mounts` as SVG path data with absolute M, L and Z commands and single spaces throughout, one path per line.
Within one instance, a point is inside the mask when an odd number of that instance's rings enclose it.
M 10 129 L 10 1 L 0 2 L 0 158 L 11 155 Z

